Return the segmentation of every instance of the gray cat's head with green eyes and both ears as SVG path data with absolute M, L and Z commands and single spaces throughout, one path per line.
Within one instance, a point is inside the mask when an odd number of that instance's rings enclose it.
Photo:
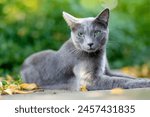
M 76 18 L 66 12 L 63 12 L 63 17 L 71 29 L 71 39 L 77 49 L 90 53 L 105 47 L 109 33 L 109 9 L 96 17 Z

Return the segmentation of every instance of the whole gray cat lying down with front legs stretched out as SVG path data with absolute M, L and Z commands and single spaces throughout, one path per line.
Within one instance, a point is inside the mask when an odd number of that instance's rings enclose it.
M 23 81 L 42 88 L 106 90 L 150 87 L 150 80 L 112 73 L 106 58 L 109 9 L 97 17 L 75 18 L 63 12 L 71 38 L 58 51 L 46 50 L 29 56 L 21 69 Z

